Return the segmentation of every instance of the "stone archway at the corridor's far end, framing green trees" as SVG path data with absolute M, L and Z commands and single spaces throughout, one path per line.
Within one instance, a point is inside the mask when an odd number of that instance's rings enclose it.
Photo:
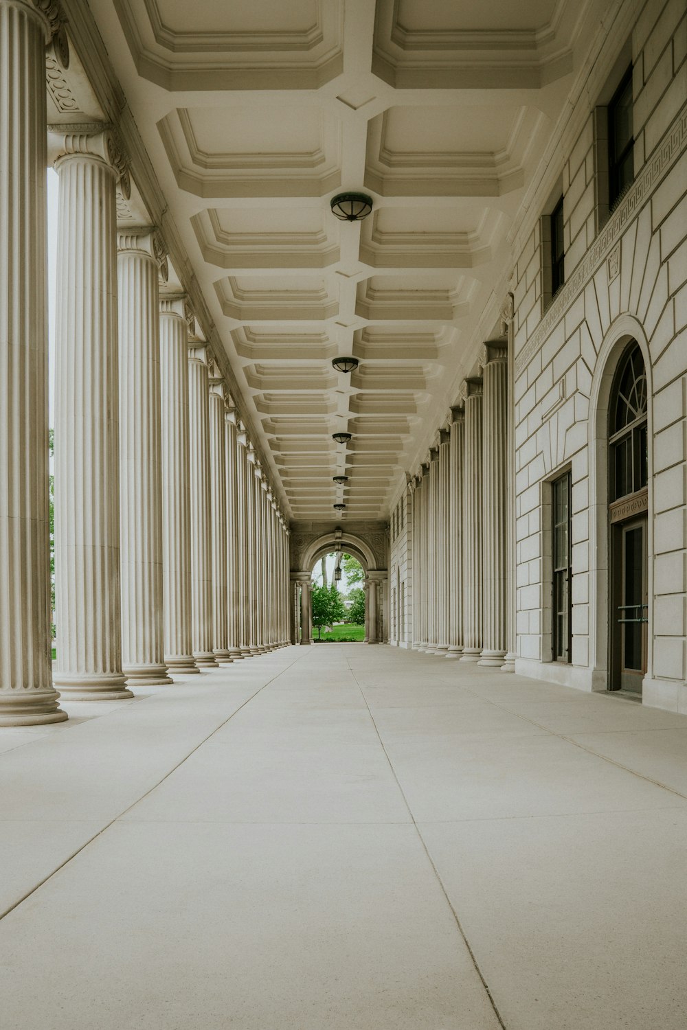
M 383 643 L 387 574 L 379 563 L 369 542 L 341 529 L 304 541 L 291 553 L 291 643 Z

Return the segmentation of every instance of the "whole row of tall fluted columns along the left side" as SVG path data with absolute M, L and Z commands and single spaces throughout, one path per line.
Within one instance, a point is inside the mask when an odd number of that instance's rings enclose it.
M 104 125 L 48 134 L 57 5 L 0 2 L 0 725 L 282 646 L 288 528 Z M 49 145 L 48 145 L 49 144 Z M 45 170 L 60 176 L 51 667 Z

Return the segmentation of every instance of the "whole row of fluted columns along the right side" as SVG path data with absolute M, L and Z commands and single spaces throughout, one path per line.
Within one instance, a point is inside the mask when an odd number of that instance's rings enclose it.
M 480 370 L 410 481 L 413 648 L 512 672 L 505 343 L 484 345 Z

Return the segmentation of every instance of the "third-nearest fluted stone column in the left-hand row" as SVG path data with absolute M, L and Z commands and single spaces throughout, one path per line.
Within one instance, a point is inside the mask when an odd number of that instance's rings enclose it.
M 171 683 L 164 660 L 160 301 L 154 230 L 117 234 L 122 665 L 131 686 Z

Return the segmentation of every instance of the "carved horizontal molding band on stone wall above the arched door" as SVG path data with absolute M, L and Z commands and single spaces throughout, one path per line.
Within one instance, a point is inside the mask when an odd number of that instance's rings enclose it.
M 675 164 L 687 140 L 687 107 L 683 107 L 671 128 L 661 140 L 656 153 L 648 163 L 629 187 L 620 204 L 613 212 L 604 229 L 594 240 L 586 256 L 578 265 L 571 279 L 561 287 L 552 301 L 549 310 L 526 341 L 522 350 L 515 358 L 515 376 L 522 374 L 529 359 L 537 353 L 545 339 L 561 321 L 569 307 L 582 291 L 589 279 L 598 271 L 600 265 L 609 258 L 617 238 L 627 228 L 628 224 L 639 213 L 647 196 L 665 177 Z M 620 263 L 618 262 L 618 271 Z

